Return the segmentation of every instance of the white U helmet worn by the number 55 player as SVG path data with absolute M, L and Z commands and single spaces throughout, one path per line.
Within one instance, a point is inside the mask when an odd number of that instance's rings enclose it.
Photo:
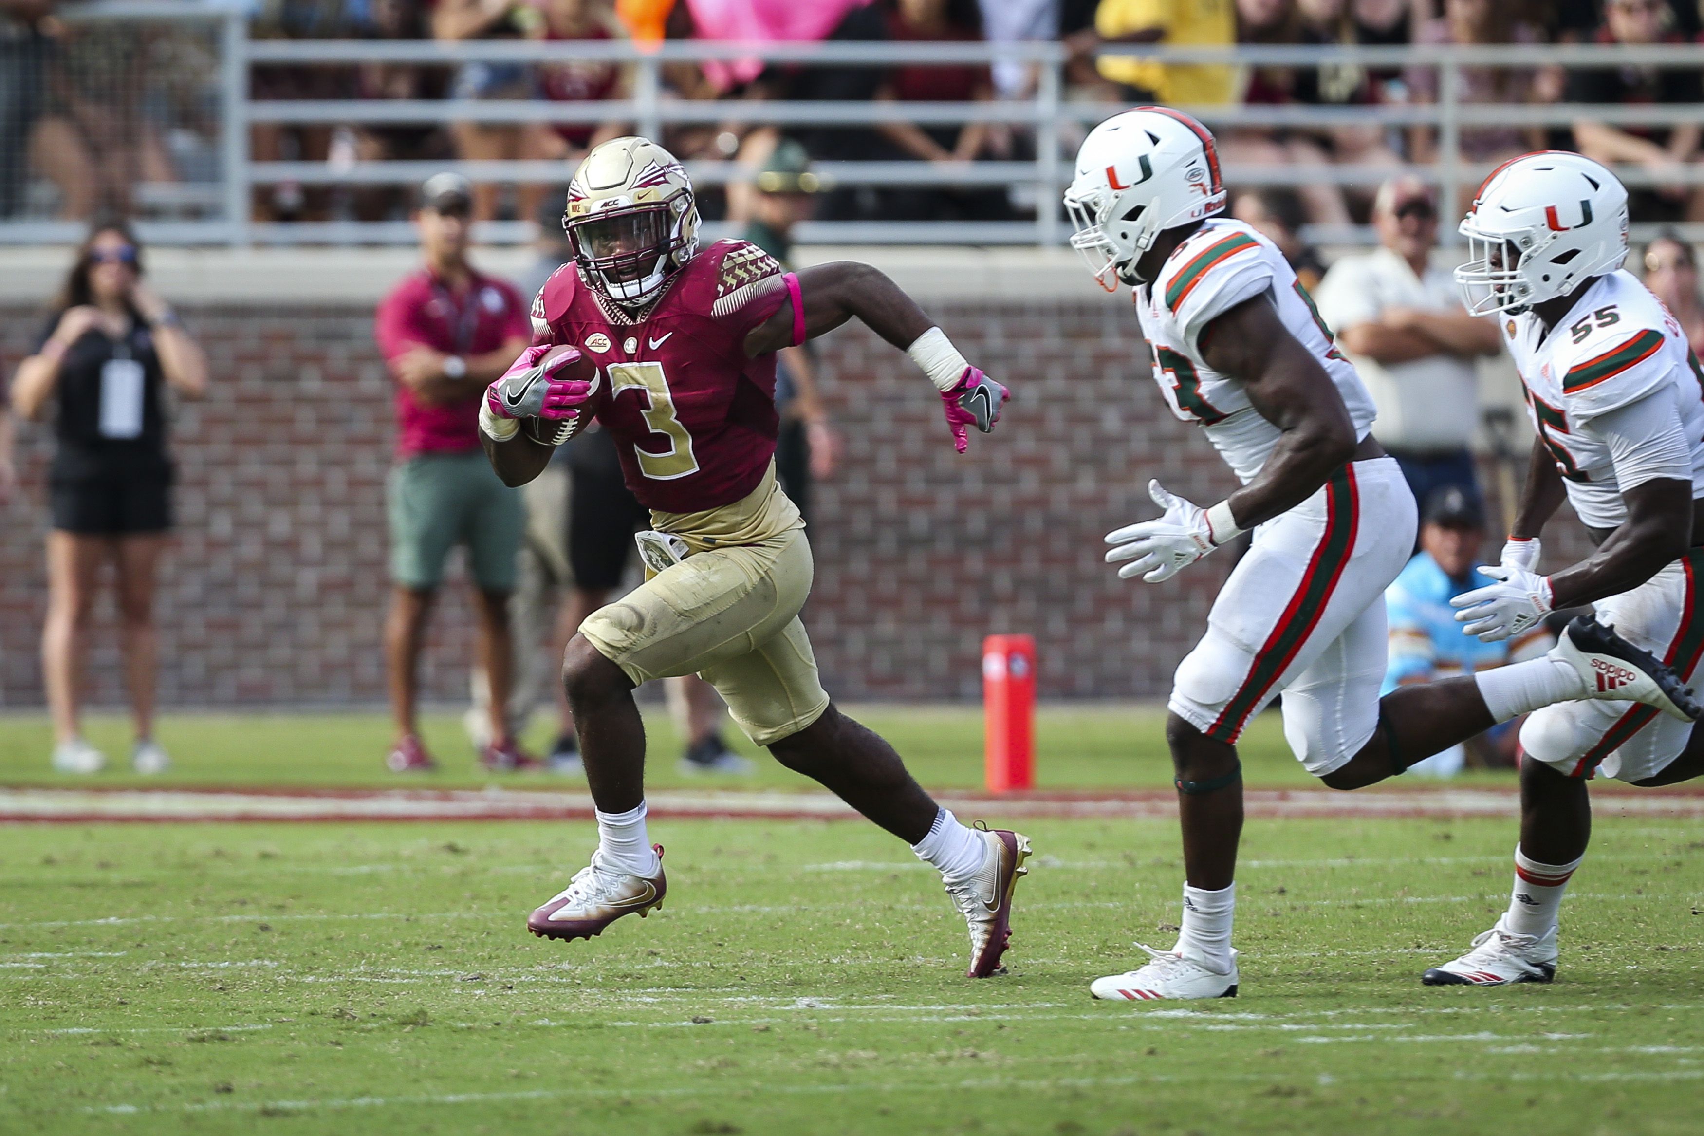
M 1569 150 L 1525 153 L 1491 170 L 1460 233 L 1467 262 L 1455 284 L 1467 312 L 1525 312 L 1621 267 L 1627 189 Z

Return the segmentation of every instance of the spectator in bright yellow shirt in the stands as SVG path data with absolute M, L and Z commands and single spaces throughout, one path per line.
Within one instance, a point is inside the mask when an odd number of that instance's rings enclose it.
M 1164 43 L 1218 48 L 1237 41 L 1235 0 L 1101 0 L 1094 31 L 1102 44 Z M 1229 63 L 1150 63 L 1102 55 L 1097 68 L 1125 102 L 1223 104 L 1237 99 Z

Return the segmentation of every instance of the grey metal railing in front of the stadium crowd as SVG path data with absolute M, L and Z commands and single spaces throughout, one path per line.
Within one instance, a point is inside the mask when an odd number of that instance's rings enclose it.
M 815 44 L 738 44 L 738 43 L 665 43 L 641 48 L 620 41 L 305 41 L 254 39 L 244 12 L 223 3 L 172 3 L 167 0 L 97 0 L 65 9 L 68 20 L 176 20 L 213 22 L 218 26 L 218 75 L 210 77 L 220 99 L 216 186 L 176 187 L 189 201 L 218 203 L 201 220 L 148 221 L 143 232 L 155 242 L 179 244 L 314 244 L 411 242 L 412 230 L 404 221 L 256 221 L 254 194 L 259 187 L 293 182 L 295 186 L 407 186 L 440 169 L 455 169 L 481 182 L 550 184 L 567 181 L 562 162 L 538 160 L 448 160 L 448 162 L 312 162 L 250 157 L 250 131 L 256 126 L 387 126 L 387 124 L 590 124 L 627 123 L 639 133 L 659 136 L 668 128 L 690 124 L 746 123 L 777 126 L 876 128 L 883 123 L 954 126 L 963 123 L 1002 123 L 1033 138 L 1034 157 L 1028 160 L 988 160 L 961 164 L 934 162 L 837 162 L 818 164 L 820 177 L 830 186 L 847 187 L 1005 187 L 1041 203 L 1034 220 L 1017 221 L 811 221 L 799 237 L 804 242 L 857 244 L 1039 244 L 1058 245 L 1065 225 L 1053 203 L 1060 199 L 1070 170 L 1070 152 L 1077 138 L 1120 104 L 1075 100 L 1065 90 L 1067 53 L 1056 43 L 815 43 Z M 1184 106 L 1215 129 L 1292 129 L 1329 131 L 1339 126 L 1375 126 L 1402 129 L 1431 128 L 1436 133 L 1436 160 L 1409 165 L 1409 172 L 1426 177 L 1442 191 L 1443 215 L 1454 216 L 1467 189 L 1488 172 L 1462 155 L 1462 131 L 1486 126 L 1569 128 L 1590 119 L 1607 124 L 1680 126 L 1704 121 L 1704 106 L 1593 106 L 1593 104 L 1471 104 L 1460 99 L 1464 68 L 1544 68 L 1569 66 L 1690 66 L 1704 68 L 1704 49 L 1695 46 L 1235 46 L 1235 48 L 1162 48 L 1108 46 L 1102 55 L 1155 60 L 1160 63 L 1222 63 L 1230 66 L 1423 66 L 1438 77 L 1438 100 L 1428 104 L 1382 106 Z M 709 60 L 762 60 L 780 65 L 888 68 L 895 65 L 987 65 L 1014 61 L 1034 68 L 1029 97 L 992 102 L 826 102 L 826 100 L 711 100 L 671 95 L 663 70 L 676 63 Z M 590 102 L 556 102 L 547 99 L 256 99 L 249 80 L 256 66 L 322 68 L 358 63 L 400 63 L 419 66 L 460 66 L 467 63 L 610 63 L 630 75 L 622 99 Z M 688 162 L 688 172 L 704 186 L 728 184 L 750 177 L 734 162 Z M 1390 175 L 1382 165 L 1237 165 L 1227 164 L 1225 181 L 1234 186 L 1312 186 L 1336 184 L 1370 189 Z M 1704 164 L 1656 172 L 1641 167 L 1617 170 L 1629 187 L 1704 186 Z M 152 187 L 155 198 L 170 196 L 170 187 Z M 143 194 L 147 199 L 147 194 Z M 1634 237 L 1649 235 L 1649 227 L 1634 227 Z M 1450 235 L 1452 225 L 1443 232 Z M 1704 225 L 1682 227 L 1684 235 L 1704 240 Z M 0 220 L 0 242 L 70 240 L 80 225 L 46 220 Z M 530 235 L 523 221 L 486 223 L 479 238 L 518 242 Z M 1314 227 L 1309 233 L 1322 244 L 1365 242 L 1368 233 L 1356 228 L 1331 230 Z

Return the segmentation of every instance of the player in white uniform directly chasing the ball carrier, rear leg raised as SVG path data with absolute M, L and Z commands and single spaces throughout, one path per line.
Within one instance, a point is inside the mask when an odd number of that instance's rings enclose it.
M 1072 245 L 1102 286 L 1135 290 L 1167 405 L 1201 426 L 1242 482 L 1208 509 L 1150 482 L 1164 516 L 1109 533 L 1108 562 L 1121 562 L 1125 579 L 1159 582 L 1254 530 L 1167 703 L 1186 874 L 1177 944 L 1143 947 L 1148 961 L 1097 979 L 1094 996 L 1237 993 L 1235 743 L 1280 691 L 1290 748 L 1334 789 L 1401 773 L 1540 705 L 1603 697 L 1593 690 L 1600 671 L 1626 683 L 1617 698 L 1695 717 L 1673 674 L 1590 620 L 1569 625 L 1542 659 L 1380 702 L 1384 591 L 1413 550 L 1414 497 L 1370 433 L 1365 387 L 1283 255 L 1217 216 L 1225 191 L 1212 135 L 1164 107 L 1118 114 L 1084 141 L 1065 204 Z

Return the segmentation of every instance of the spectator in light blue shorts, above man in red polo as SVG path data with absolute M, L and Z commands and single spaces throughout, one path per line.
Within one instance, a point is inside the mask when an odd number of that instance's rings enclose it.
M 435 39 L 521 39 L 542 22 L 538 9 L 515 0 L 438 0 L 431 12 Z M 452 99 L 530 99 L 533 78 L 525 63 L 463 63 L 450 85 Z M 535 158 L 544 153 L 544 126 L 538 123 L 453 123 L 457 153 L 474 162 Z M 481 182 L 474 187 L 474 220 L 498 216 L 499 186 Z M 516 216 L 538 209 L 542 186 L 521 186 Z

